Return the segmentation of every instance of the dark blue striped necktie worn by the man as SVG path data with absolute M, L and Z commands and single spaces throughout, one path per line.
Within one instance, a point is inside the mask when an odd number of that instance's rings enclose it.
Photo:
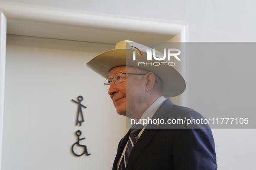
M 139 132 L 141 131 L 141 129 L 143 127 L 144 126 L 141 125 L 141 124 L 134 124 L 131 127 L 130 137 L 129 137 L 129 140 L 128 140 L 128 143 L 127 143 L 126 151 L 123 155 L 123 158 L 122 158 L 122 161 L 119 165 L 118 170 L 126 170 L 126 164 L 127 164 L 129 155 L 130 155 L 131 151 L 133 150 L 133 146 L 135 145 L 135 143 L 138 139 Z

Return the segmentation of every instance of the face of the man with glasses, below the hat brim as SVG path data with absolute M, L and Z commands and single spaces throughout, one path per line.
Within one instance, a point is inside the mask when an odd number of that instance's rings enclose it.
M 137 73 L 136 69 L 130 66 L 119 66 L 110 70 L 109 78 L 113 78 L 118 72 Z M 117 113 L 120 115 L 133 118 L 133 114 L 139 112 L 139 107 L 143 107 L 143 95 L 145 87 L 143 79 L 138 80 L 136 75 L 123 74 L 123 82 L 115 84 L 112 82 L 108 90 L 108 94 L 113 101 L 114 106 L 117 108 Z M 127 113 L 126 113 L 127 110 Z

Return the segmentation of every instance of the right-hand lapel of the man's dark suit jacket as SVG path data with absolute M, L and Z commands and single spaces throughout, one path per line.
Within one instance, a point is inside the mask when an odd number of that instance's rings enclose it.
M 173 105 L 174 104 L 172 103 L 172 101 L 169 98 L 166 99 L 161 104 L 161 106 L 156 110 L 156 113 L 154 114 L 154 116 L 151 119 L 157 120 L 159 118 L 159 120 L 161 120 L 163 118 L 163 115 L 165 113 L 167 113 L 172 108 Z M 156 131 L 159 129 L 160 126 L 161 126 L 161 124 L 159 124 L 158 126 L 154 125 L 154 124 L 149 124 L 146 126 L 146 129 L 144 129 L 143 133 L 139 137 L 138 141 L 136 142 L 136 145 L 134 145 L 133 150 L 130 153 L 130 156 L 129 156 L 129 159 L 127 162 L 127 166 L 126 166 L 126 170 L 133 169 L 133 166 L 134 166 L 137 158 L 139 157 L 139 154 L 149 144 L 149 142 L 151 141 L 151 139 L 153 138 L 153 136 L 155 135 Z M 129 138 L 129 135 L 128 135 L 128 138 Z M 127 138 L 127 140 L 128 140 L 128 138 Z M 125 144 L 126 144 L 126 142 L 125 142 Z

